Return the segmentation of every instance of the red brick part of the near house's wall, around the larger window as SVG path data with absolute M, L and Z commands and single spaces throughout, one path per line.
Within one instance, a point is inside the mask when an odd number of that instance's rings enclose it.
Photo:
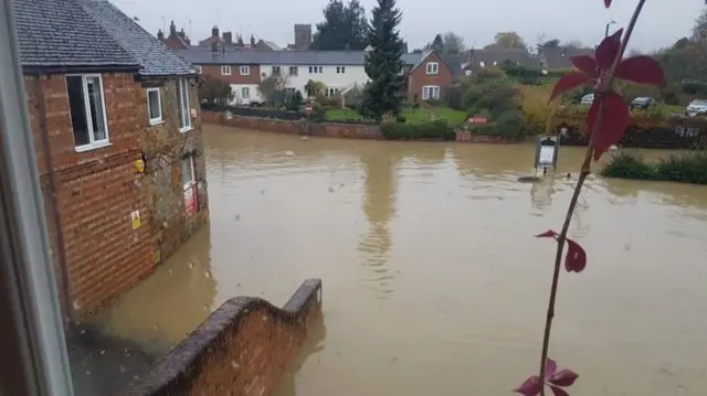
M 131 74 L 102 76 L 112 145 L 85 152 L 75 151 L 65 76 L 41 79 L 65 242 L 68 290 L 63 291 L 68 292 L 74 317 L 92 313 L 154 268 L 147 194 L 140 182 L 143 176 L 134 165 L 141 157 L 139 139 L 145 132 L 143 118 L 138 117 L 143 111 L 140 86 Z M 35 77 L 25 77 L 40 176 L 48 180 L 36 83 Z M 49 188 L 46 182 L 42 185 Z M 45 197 L 51 195 L 45 191 Z M 130 222 L 133 211 L 140 212 L 143 223 L 135 231 Z M 52 234 L 56 238 L 55 232 Z M 52 243 L 56 245 L 56 240 Z M 57 253 L 54 255 L 56 258 Z

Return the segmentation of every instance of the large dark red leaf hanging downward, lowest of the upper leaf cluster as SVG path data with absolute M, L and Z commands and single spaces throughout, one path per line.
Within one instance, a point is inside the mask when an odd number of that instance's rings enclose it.
M 601 125 L 594 128 L 597 116 L 599 115 L 600 104 L 603 103 L 603 114 Z M 587 114 L 587 132 L 590 135 L 598 133 L 594 137 L 594 160 L 599 160 L 604 151 L 621 139 L 629 126 L 629 105 L 623 100 L 621 95 L 613 90 L 605 94 L 603 100 L 594 100 L 592 107 Z

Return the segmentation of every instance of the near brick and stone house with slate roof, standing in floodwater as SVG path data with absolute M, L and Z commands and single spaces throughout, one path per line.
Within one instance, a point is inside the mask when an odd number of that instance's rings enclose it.
M 103 0 L 15 0 L 64 313 L 91 314 L 208 218 L 198 73 Z

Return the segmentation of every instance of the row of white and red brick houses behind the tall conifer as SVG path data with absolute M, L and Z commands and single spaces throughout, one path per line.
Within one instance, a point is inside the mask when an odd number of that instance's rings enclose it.
M 327 86 L 327 96 L 337 96 L 368 82 L 365 51 L 238 51 L 214 45 L 211 50 L 188 47 L 179 53 L 197 65 L 204 76 L 228 82 L 234 103 L 247 105 L 263 100 L 257 86 L 270 76 L 281 76 L 286 89 L 305 95 L 308 81 Z M 449 93 L 461 67 L 450 67 L 439 54 L 403 54 L 409 100 L 441 100 Z M 305 95 L 306 96 L 306 95 Z

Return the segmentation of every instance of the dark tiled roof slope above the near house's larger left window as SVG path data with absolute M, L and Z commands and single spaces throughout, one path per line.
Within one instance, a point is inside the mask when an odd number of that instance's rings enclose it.
M 77 0 L 13 0 L 11 4 L 25 69 L 138 68 Z

